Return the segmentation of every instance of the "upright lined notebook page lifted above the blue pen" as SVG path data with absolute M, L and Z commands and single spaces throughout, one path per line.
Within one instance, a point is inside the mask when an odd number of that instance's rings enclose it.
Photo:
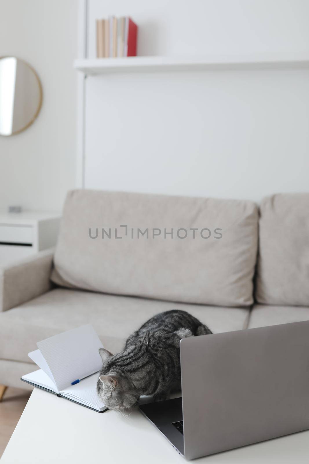
M 90 324 L 46 338 L 37 345 L 59 391 L 102 367 L 99 348 L 103 345 Z

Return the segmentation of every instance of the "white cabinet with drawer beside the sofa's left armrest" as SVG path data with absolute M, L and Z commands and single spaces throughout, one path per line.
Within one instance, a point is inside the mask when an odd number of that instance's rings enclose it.
M 56 245 L 60 214 L 0 212 L 0 267 Z

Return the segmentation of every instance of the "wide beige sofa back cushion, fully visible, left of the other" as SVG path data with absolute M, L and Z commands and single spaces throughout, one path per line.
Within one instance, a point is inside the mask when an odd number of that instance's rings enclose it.
M 251 201 L 75 190 L 65 202 L 52 280 L 118 295 L 246 306 L 257 240 Z

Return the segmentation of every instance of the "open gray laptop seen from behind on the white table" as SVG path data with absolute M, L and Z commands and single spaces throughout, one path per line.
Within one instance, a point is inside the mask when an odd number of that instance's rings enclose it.
M 139 406 L 200 458 L 309 429 L 309 321 L 183 338 L 182 398 Z

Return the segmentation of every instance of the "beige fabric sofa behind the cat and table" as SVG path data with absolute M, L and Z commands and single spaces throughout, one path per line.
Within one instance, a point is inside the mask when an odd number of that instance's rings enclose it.
M 115 352 L 154 314 L 213 332 L 309 319 L 309 194 L 251 201 L 75 190 L 55 252 L 0 271 L 0 384 L 36 342 L 91 323 Z

